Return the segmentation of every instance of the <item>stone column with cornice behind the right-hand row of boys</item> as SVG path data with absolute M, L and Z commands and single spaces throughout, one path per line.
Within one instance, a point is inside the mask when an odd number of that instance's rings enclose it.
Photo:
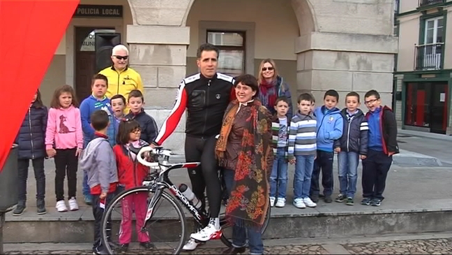
M 296 39 L 295 52 L 297 92 L 312 92 L 316 105 L 323 104 L 328 89 L 339 92 L 339 108 L 345 106 L 348 92 L 363 97 L 370 89 L 377 89 L 382 103 L 391 105 L 396 37 L 311 32 Z M 366 112 L 365 105 L 361 108 Z

